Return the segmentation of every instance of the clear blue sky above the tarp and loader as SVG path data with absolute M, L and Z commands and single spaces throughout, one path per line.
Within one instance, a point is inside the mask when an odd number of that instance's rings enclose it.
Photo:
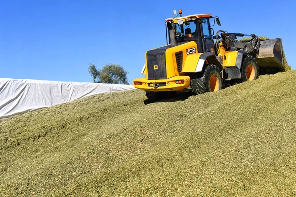
M 296 69 L 295 0 L 216 2 L 1 0 L 0 78 L 92 82 L 90 63 L 118 63 L 132 82 L 142 77 L 145 52 L 166 44 L 164 20 L 174 9 L 219 16 L 215 32 L 281 37 Z

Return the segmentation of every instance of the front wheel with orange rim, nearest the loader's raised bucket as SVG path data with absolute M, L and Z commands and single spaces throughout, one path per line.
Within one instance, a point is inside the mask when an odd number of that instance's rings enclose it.
M 241 82 L 253 81 L 258 78 L 259 68 L 255 58 L 251 55 L 244 55 L 243 63 L 241 66 Z

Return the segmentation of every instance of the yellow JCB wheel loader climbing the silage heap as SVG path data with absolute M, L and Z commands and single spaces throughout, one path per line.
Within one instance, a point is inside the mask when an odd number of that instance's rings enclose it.
M 182 16 L 182 10 L 179 15 L 166 19 L 167 45 L 146 52 L 141 72 L 146 77 L 133 81 L 135 88 L 146 91 L 148 100 L 176 92 L 215 92 L 222 89 L 225 79 L 255 80 L 259 71 L 284 69 L 281 38 L 263 41 L 254 34 L 223 30 L 214 35 L 215 22 L 220 26 L 218 17 Z M 250 39 L 237 41 L 244 36 Z

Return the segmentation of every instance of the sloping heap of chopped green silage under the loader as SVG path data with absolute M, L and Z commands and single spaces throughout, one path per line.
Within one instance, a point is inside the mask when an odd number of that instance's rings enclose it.
M 0 196 L 296 195 L 296 71 L 144 105 L 97 95 L 0 122 Z

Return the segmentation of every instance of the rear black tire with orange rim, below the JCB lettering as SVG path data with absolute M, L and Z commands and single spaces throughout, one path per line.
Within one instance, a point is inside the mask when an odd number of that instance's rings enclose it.
M 213 84 L 213 78 L 215 85 Z M 213 64 L 206 67 L 202 77 L 191 79 L 192 93 L 196 95 L 221 90 L 222 84 L 223 80 L 220 69 Z

